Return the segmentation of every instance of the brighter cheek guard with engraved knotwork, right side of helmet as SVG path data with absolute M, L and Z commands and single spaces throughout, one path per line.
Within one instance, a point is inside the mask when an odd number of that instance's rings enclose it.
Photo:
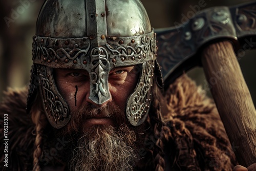
M 134 97 L 129 106 L 127 106 L 127 117 L 130 122 L 137 124 L 140 120 L 144 120 L 144 115 L 148 113 L 151 103 L 151 87 L 154 76 L 155 61 L 146 62 L 145 68 L 142 71 L 142 76 L 137 90 L 134 92 Z M 132 95 L 133 96 L 133 95 Z M 130 101 L 129 100 L 129 101 Z M 133 119 L 133 121 L 131 121 Z

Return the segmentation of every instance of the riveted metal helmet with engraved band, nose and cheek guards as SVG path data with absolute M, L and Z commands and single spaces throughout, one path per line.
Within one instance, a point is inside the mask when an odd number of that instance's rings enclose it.
M 88 71 L 89 98 L 102 104 L 111 98 L 109 72 L 115 67 L 140 65 L 138 83 L 127 99 L 125 111 L 132 125 L 140 125 L 151 103 L 155 36 L 139 0 L 46 1 L 33 37 L 27 110 L 38 92 L 49 122 L 59 129 L 72 116 L 68 103 L 58 91 L 53 69 Z

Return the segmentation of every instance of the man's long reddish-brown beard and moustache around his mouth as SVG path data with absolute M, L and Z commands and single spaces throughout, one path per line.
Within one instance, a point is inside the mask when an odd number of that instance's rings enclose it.
M 112 117 L 116 125 L 93 125 L 84 129 L 84 120 L 97 114 Z M 78 109 L 59 136 L 70 137 L 73 151 L 68 157 L 70 170 L 132 170 L 136 152 L 143 141 L 144 126 L 130 126 L 124 112 L 110 104 L 104 108 Z

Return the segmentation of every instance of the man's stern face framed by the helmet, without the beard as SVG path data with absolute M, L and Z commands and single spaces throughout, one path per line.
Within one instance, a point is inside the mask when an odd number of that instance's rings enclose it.
M 89 114 L 88 111 L 81 114 L 83 118 L 86 118 L 82 125 L 83 130 L 86 130 L 93 125 L 118 126 L 112 113 L 108 113 L 108 110 L 102 112 L 99 109 L 115 106 L 123 113 L 123 116 L 118 117 L 125 117 L 126 100 L 134 91 L 138 81 L 138 74 L 134 70 L 135 66 L 119 67 L 110 71 L 108 81 L 111 98 L 103 104 L 96 104 L 89 99 L 90 77 L 86 70 L 56 69 L 55 79 L 60 93 L 69 104 L 71 116 L 77 114 L 78 111 L 79 113 L 85 112 L 82 110 L 86 106 L 89 107 L 89 110 L 91 109 L 90 111 L 96 110 L 97 114 L 95 112 Z M 125 119 L 123 118 L 123 120 Z

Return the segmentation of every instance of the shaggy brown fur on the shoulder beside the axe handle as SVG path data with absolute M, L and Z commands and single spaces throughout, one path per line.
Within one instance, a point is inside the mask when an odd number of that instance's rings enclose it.
M 231 170 L 236 159 L 214 101 L 186 75 L 179 77 L 165 94 L 170 127 L 180 162 L 198 162 L 200 168 Z M 201 160 L 204 160 L 202 162 Z

